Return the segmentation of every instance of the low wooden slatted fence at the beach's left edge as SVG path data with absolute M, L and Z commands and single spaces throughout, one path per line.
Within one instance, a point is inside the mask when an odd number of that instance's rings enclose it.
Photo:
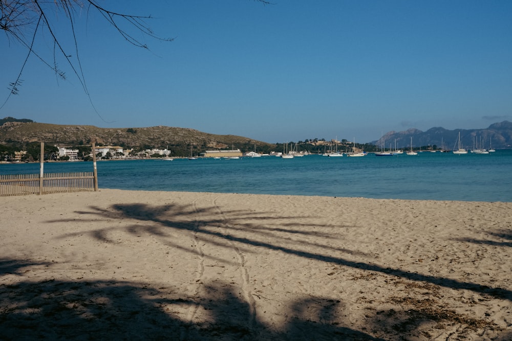
M 94 191 L 93 172 L 0 174 L 0 196 Z

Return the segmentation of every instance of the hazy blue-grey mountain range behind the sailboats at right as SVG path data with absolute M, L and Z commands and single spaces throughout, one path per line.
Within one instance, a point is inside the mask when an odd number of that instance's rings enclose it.
M 461 144 L 465 148 L 473 149 L 474 142 L 479 146 L 481 143 L 481 147 L 485 149 L 488 149 L 491 143 L 495 149 L 512 148 L 512 122 L 509 121 L 494 123 L 483 129 L 447 130 L 442 127 L 434 127 L 427 131 L 414 128 L 399 132 L 390 131 L 381 139 L 371 143 L 380 146 L 383 140 L 386 148 L 389 148 L 390 144 L 394 148 L 396 140 L 397 148 L 407 148 L 411 146 L 412 137 L 413 147 L 436 145 L 438 148 L 452 150 L 457 142 L 459 131 Z

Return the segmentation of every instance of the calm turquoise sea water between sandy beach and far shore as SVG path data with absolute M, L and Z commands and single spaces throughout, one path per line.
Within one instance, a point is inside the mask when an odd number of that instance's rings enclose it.
M 98 161 L 97 169 L 100 189 L 512 201 L 512 150 L 466 155 Z M 92 170 L 92 162 L 44 165 L 48 173 Z M 38 174 L 39 164 L 0 165 L 0 174 L 20 173 Z

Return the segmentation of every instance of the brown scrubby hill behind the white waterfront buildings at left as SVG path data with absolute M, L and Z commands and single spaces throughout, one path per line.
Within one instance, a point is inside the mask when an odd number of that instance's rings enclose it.
M 58 125 L 5 118 L 0 126 L 0 144 L 26 145 L 45 142 L 60 146 L 113 145 L 135 148 L 169 148 L 175 155 L 187 155 L 190 148 L 253 150 L 269 148 L 268 143 L 236 135 L 216 135 L 195 129 L 167 126 L 146 128 L 98 128 L 88 125 Z M 30 120 L 29 120 L 30 121 Z

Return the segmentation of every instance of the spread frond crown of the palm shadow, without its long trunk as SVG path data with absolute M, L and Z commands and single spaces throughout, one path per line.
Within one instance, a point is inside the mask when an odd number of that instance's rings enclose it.
M 112 242 L 108 238 L 110 232 L 122 230 L 130 234 L 139 234 L 141 232 L 151 233 L 155 236 L 166 237 L 168 230 L 189 231 L 197 234 L 198 236 L 219 237 L 221 240 L 231 242 L 242 242 L 243 244 L 253 246 L 272 246 L 258 239 L 272 239 L 276 243 L 283 242 L 286 244 L 301 244 L 313 247 L 326 248 L 328 251 L 340 251 L 354 255 L 366 256 L 366 254 L 346 248 L 334 248 L 332 246 L 310 242 L 308 236 L 321 237 L 326 240 L 338 238 L 335 231 L 322 232 L 322 231 L 306 231 L 300 229 L 286 228 L 287 225 L 292 225 L 295 228 L 297 225 L 306 226 L 309 229 L 322 228 L 325 229 L 329 226 L 316 225 L 312 223 L 297 223 L 289 224 L 287 221 L 291 219 L 300 219 L 301 217 L 262 217 L 261 214 L 246 213 L 244 211 L 229 211 L 223 212 L 222 217 L 218 217 L 219 213 L 215 208 L 195 209 L 190 205 L 180 206 L 176 204 L 166 204 L 158 207 L 150 207 L 147 204 L 114 204 L 112 210 L 103 210 L 97 207 L 90 207 L 92 211 L 79 211 L 76 212 L 80 215 L 96 215 L 104 219 L 134 219 L 141 222 L 148 222 L 147 225 L 130 225 L 129 227 L 122 226 L 121 228 L 102 228 L 96 229 L 90 235 L 104 242 Z M 225 216 L 229 215 L 229 218 Z M 308 217 L 310 218 L 310 217 Z M 256 222 L 247 222 L 247 220 L 265 221 L 272 220 L 273 225 L 263 225 Z M 52 220 L 49 222 L 63 222 L 63 221 L 94 221 L 86 219 L 70 219 L 70 220 Z M 149 224 L 151 223 L 151 224 Z M 338 226 L 339 227 L 339 226 Z M 236 237 L 233 232 L 241 232 L 245 235 L 251 235 L 254 239 Z M 76 236 L 82 233 L 70 233 L 63 235 L 62 238 Z M 304 236 L 303 240 L 291 240 L 290 236 Z M 268 237 L 268 238 L 263 238 Z M 209 243 L 215 244 L 216 241 L 208 238 Z M 217 244 L 221 245 L 221 243 Z M 224 245 L 225 246 L 225 245 Z

